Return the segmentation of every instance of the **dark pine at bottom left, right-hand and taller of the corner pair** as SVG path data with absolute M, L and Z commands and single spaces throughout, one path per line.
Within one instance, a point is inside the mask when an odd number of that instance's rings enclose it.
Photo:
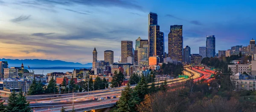
M 19 94 L 17 95 L 17 109 L 18 112 L 32 112 L 29 106 L 29 102 L 26 101 L 26 97 L 23 96 L 22 91 L 20 89 Z

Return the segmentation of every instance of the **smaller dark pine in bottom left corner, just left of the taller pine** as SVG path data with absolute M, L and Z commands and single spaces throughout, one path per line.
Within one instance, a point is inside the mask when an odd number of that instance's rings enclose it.
M 17 107 L 17 95 L 15 94 L 15 90 L 12 90 L 11 95 L 9 96 L 8 105 L 6 107 L 6 112 L 19 112 Z

